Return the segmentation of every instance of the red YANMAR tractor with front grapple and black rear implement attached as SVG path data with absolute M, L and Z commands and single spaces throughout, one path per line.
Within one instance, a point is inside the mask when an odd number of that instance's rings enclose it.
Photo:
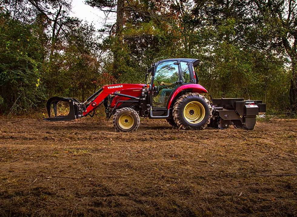
M 47 102 L 48 121 L 73 120 L 95 114 L 103 103 L 106 117 L 113 115 L 116 131 L 136 131 L 139 117 L 164 118 L 169 124 L 182 129 L 225 129 L 229 125 L 252 130 L 256 115 L 265 112 L 261 100 L 242 98 L 212 99 L 198 83 L 194 67 L 199 59 L 164 59 L 148 70 L 146 84 L 111 84 L 103 86 L 85 102 L 75 98 L 52 97 Z M 69 103 L 69 113 L 57 116 L 59 101 Z M 51 108 L 55 117 L 51 117 Z

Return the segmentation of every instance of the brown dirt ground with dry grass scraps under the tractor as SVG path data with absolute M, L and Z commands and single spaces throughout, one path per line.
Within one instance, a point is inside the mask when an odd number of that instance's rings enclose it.
M 0 216 L 297 216 L 296 130 L 1 118 Z

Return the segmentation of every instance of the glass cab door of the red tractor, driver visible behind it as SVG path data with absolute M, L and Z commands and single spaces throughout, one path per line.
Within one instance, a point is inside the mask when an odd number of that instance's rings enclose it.
M 159 63 L 155 69 L 152 85 L 152 107 L 165 109 L 171 93 L 181 83 L 178 61 L 169 60 Z

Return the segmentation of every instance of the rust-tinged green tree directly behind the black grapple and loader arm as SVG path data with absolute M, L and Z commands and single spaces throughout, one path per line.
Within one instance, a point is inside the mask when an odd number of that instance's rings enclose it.
M 65 35 L 67 46 L 54 52 L 44 75 L 49 96 L 77 97 L 84 101 L 98 87 L 113 81 L 98 59 L 99 38 L 93 26 L 78 23 Z M 56 44 L 56 46 L 58 43 Z

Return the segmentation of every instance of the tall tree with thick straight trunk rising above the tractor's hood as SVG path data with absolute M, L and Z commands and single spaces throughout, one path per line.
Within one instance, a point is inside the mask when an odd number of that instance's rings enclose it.
M 110 13 L 116 13 L 116 22 L 105 26 L 104 31 L 109 32 L 105 42 L 107 50 L 112 51 L 113 74 L 117 79 L 132 72 L 138 76 L 140 69 L 145 71 L 149 64 L 147 61 L 145 67 L 141 64 L 146 59 L 144 52 L 152 53 L 152 49 L 159 49 L 160 30 L 165 33 L 172 27 L 172 15 L 179 9 L 172 1 L 87 0 L 86 3 L 104 11 L 106 19 Z

